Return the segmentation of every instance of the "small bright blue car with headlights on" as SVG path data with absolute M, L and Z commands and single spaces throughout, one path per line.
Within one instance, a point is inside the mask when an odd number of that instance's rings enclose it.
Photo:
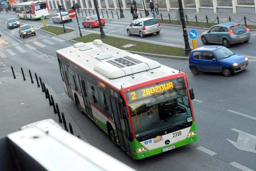
M 190 52 L 189 69 L 192 74 L 199 72 L 222 72 L 226 77 L 248 67 L 248 58 L 233 53 L 224 46 L 202 46 Z

